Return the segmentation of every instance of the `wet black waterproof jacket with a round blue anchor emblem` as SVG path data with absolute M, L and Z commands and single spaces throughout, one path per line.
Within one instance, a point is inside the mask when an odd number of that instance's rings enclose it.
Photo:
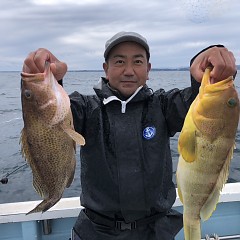
M 198 93 L 192 82 L 192 88 L 154 93 L 145 85 L 125 113 L 119 100 L 103 103 L 116 95 L 105 79 L 94 96 L 70 95 L 75 129 L 86 140 L 80 152 L 84 207 L 126 222 L 171 209 L 176 193 L 169 137 L 181 131 Z

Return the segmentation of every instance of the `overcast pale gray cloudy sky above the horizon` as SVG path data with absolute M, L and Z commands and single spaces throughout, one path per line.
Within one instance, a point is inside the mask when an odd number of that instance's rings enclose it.
M 21 71 L 47 48 L 68 70 L 101 70 L 105 42 L 119 31 L 143 35 L 152 68 L 186 67 L 223 44 L 240 64 L 239 0 L 1 0 L 0 71 Z

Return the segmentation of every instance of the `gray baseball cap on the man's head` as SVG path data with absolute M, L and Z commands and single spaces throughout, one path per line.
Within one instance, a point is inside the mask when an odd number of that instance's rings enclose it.
M 122 42 L 136 42 L 142 45 L 150 57 L 149 46 L 147 40 L 136 32 L 119 32 L 110 38 L 105 44 L 104 58 L 107 59 L 109 52 L 113 47 Z

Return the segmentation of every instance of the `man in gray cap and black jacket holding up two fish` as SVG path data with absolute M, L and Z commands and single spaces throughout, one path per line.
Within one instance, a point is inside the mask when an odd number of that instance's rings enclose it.
M 134 32 L 120 32 L 106 42 L 105 78 L 96 95 L 70 95 L 81 148 L 81 204 L 74 226 L 81 240 L 171 240 L 182 228 L 182 216 L 171 210 L 169 138 L 181 131 L 188 108 L 198 94 L 203 72 L 213 67 L 211 82 L 236 73 L 233 54 L 221 45 L 200 52 L 191 64 L 191 87 L 152 92 L 149 45 Z M 23 71 L 42 72 L 45 61 L 61 80 L 67 71 L 46 49 L 26 58 Z M 161 83 L 160 83 L 161 84 Z

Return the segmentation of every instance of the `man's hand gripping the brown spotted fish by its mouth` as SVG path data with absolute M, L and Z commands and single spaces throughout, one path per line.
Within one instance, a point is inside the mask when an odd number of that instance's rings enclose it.
M 44 72 L 45 62 L 50 62 L 50 68 L 57 80 L 61 80 L 67 72 L 67 64 L 59 61 L 49 50 L 39 48 L 29 53 L 24 60 L 22 71 L 26 73 Z

